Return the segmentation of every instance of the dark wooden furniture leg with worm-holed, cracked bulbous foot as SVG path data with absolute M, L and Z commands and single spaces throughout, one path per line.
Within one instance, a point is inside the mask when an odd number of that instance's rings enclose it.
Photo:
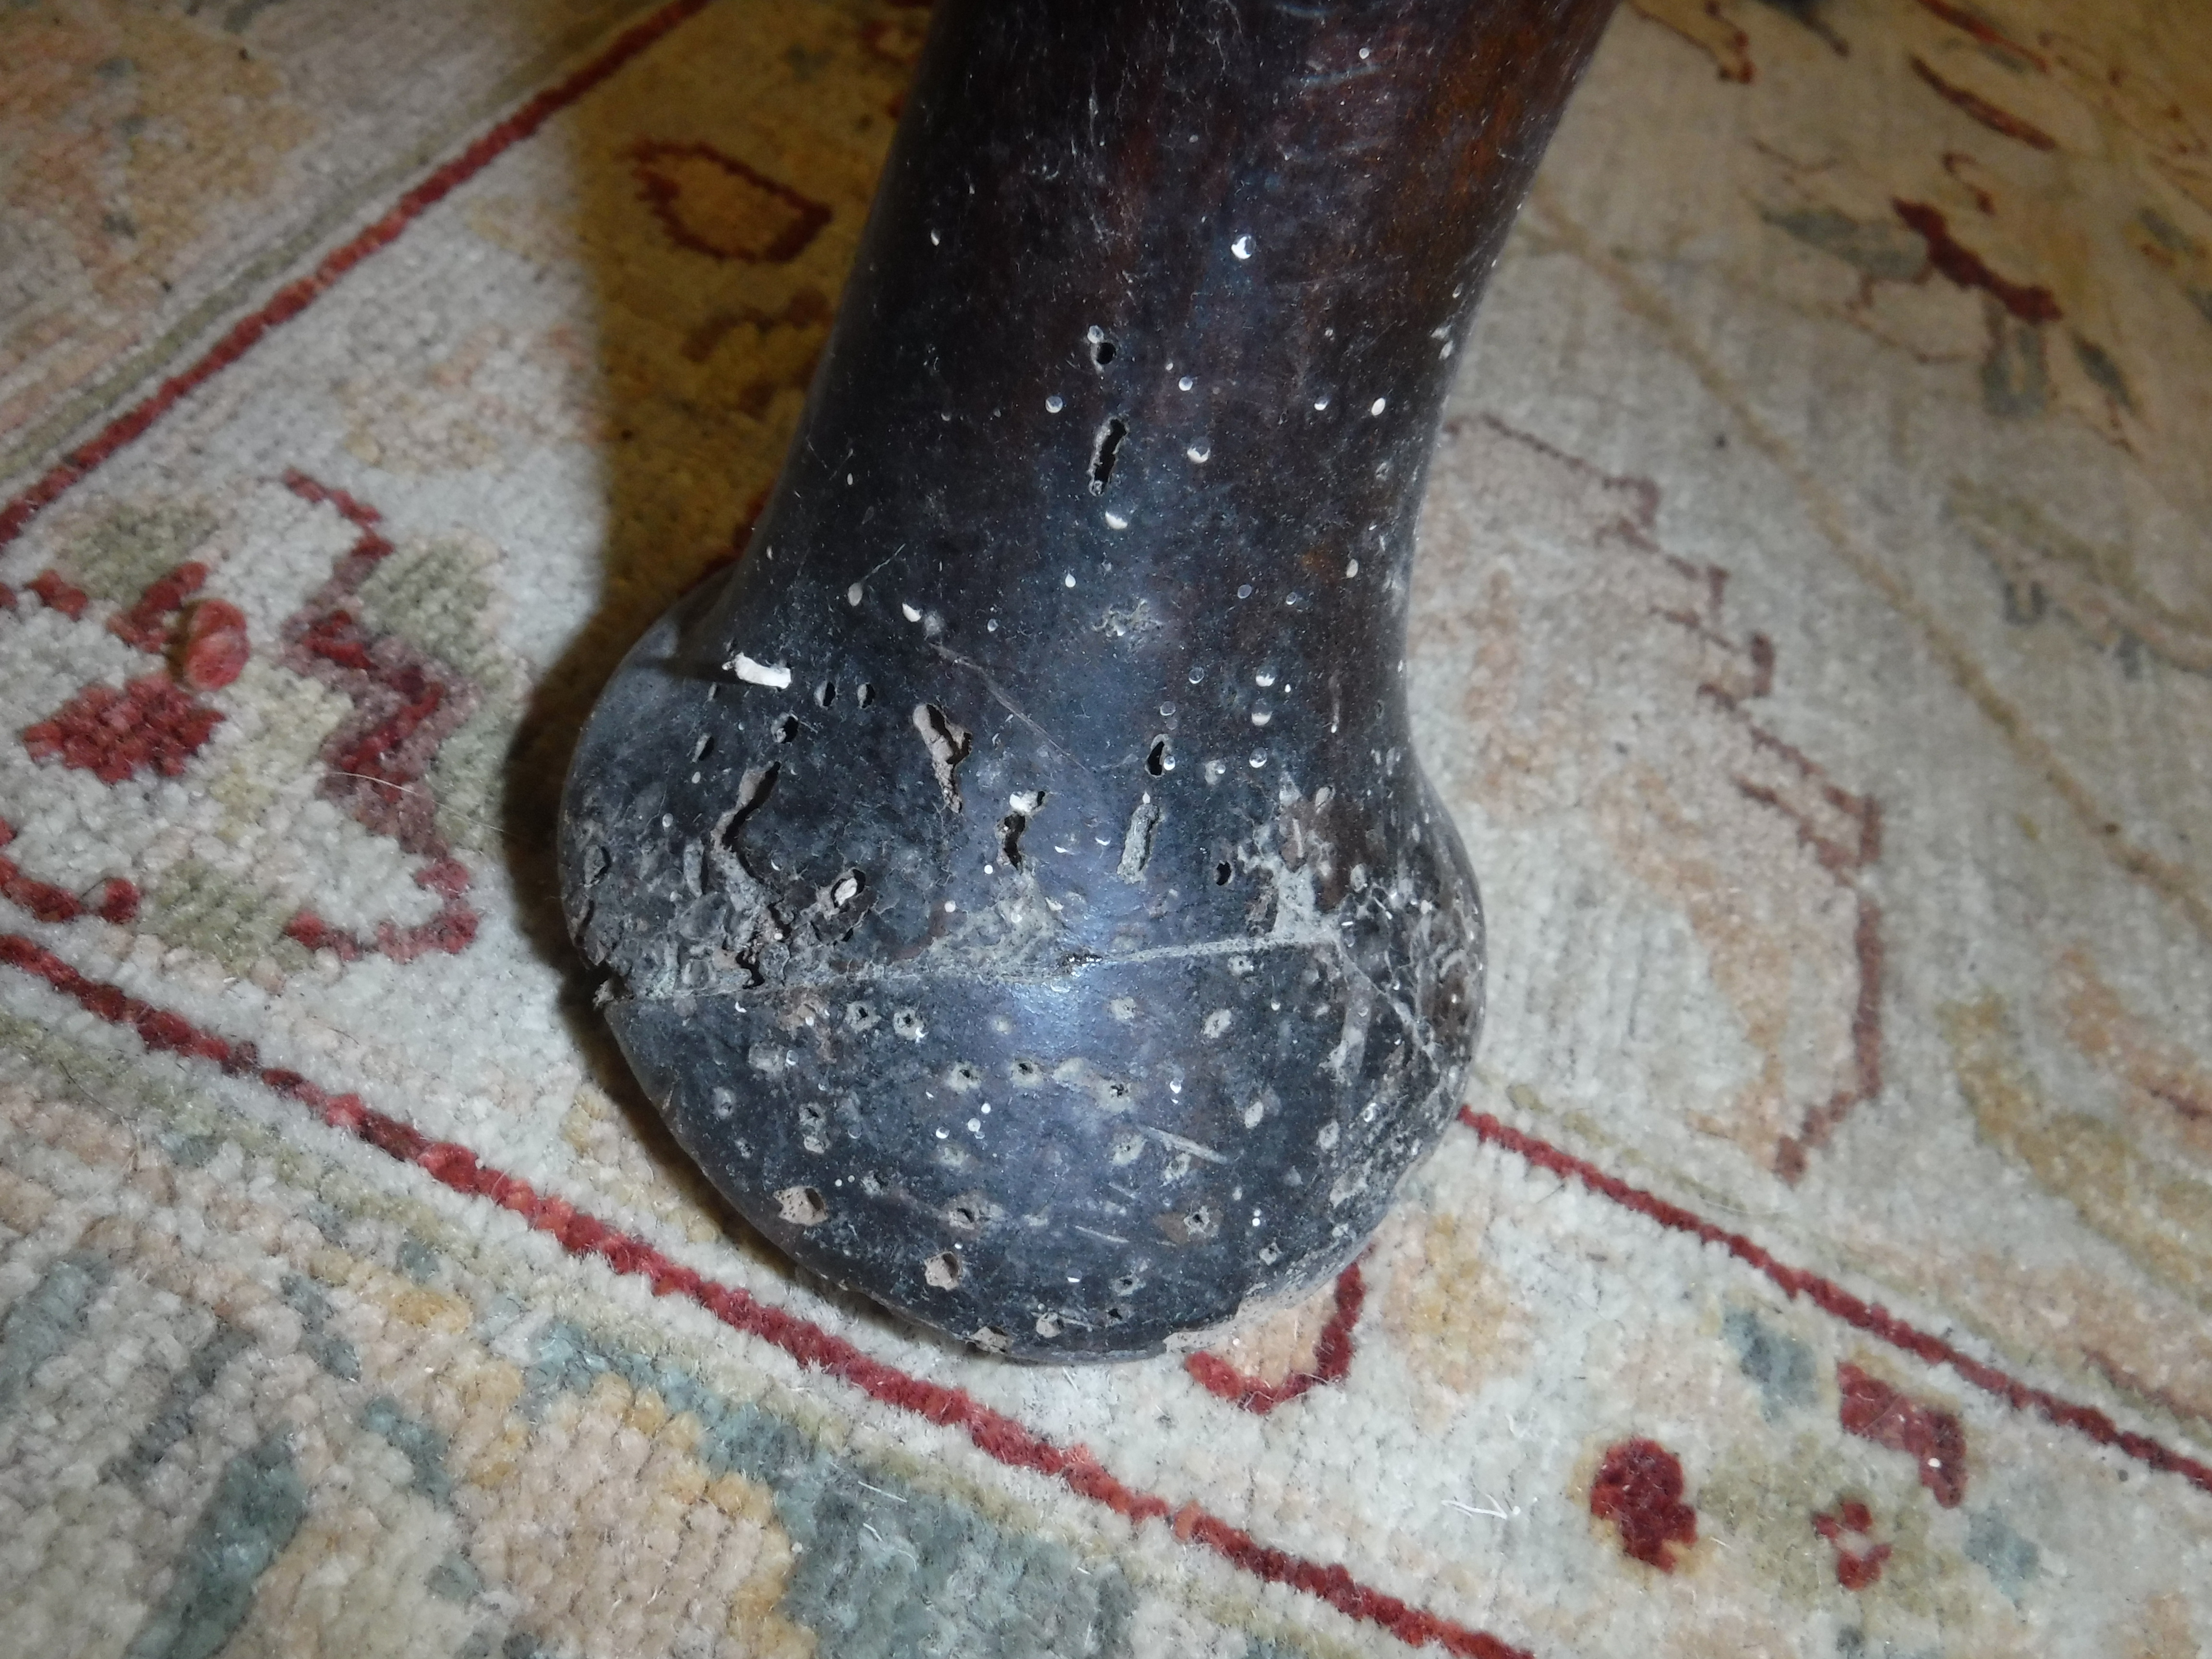
M 608 686 L 564 905 L 799 1263 L 1022 1358 L 1336 1272 L 1482 914 L 1405 606 L 1610 0 L 947 0 L 743 564 Z

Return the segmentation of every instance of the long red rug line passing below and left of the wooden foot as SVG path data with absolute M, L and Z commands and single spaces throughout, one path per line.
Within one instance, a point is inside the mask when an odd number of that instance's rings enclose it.
M 117 984 L 86 978 L 35 940 L 20 933 L 0 933 L 0 964 L 44 980 L 113 1026 L 137 1031 L 139 1042 L 155 1053 L 190 1055 L 192 1060 L 219 1066 L 226 1075 L 252 1077 L 283 1099 L 307 1106 L 332 1128 L 374 1146 L 400 1164 L 414 1164 L 453 1192 L 491 1199 L 500 1208 L 513 1210 L 529 1225 L 553 1234 L 568 1254 L 599 1256 L 617 1274 L 646 1279 L 655 1296 L 688 1296 L 723 1325 L 772 1343 L 807 1369 L 834 1376 L 860 1389 L 872 1400 L 909 1411 L 927 1422 L 958 1427 L 980 1451 L 1011 1469 L 1033 1469 L 1040 1475 L 1060 1480 L 1082 1498 L 1106 1504 L 1106 1509 L 1137 1524 L 1166 1520 L 1186 1544 L 1203 1544 L 1232 1566 L 1267 1584 L 1287 1584 L 1294 1590 L 1327 1601 L 1352 1619 L 1380 1626 L 1409 1648 L 1433 1644 L 1444 1652 L 1464 1655 L 1467 1659 L 1533 1659 L 1526 1648 L 1500 1641 L 1486 1630 L 1471 1630 L 1464 1624 L 1453 1624 L 1360 1584 L 1343 1566 L 1323 1566 L 1303 1555 L 1270 1548 L 1243 1528 L 1197 1504 L 1177 1509 L 1157 1493 L 1126 1486 L 1086 1447 L 1055 1444 L 1015 1418 L 978 1402 L 967 1389 L 925 1383 L 918 1376 L 872 1358 L 858 1345 L 847 1343 L 843 1336 L 832 1336 L 799 1314 L 772 1307 L 737 1285 L 719 1285 L 703 1279 L 692 1267 L 670 1261 L 644 1239 L 619 1232 L 597 1217 L 577 1210 L 566 1199 L 542 1194 L 529 1181 L 495 1170 L 480 1161 L 467 1146 L 434 1141 L 422 1130 L 372 1110 L 358 1095 L 332 1095 L 296 1071 L 261 1066 L 250 1042 L 230 1042 L 212 1031 L 201 1031 L 184 1015 L 142 1002 Z

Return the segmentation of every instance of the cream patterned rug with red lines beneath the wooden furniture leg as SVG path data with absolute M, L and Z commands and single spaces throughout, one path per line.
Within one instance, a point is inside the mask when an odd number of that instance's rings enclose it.
M 2201 1652 L 2208 20 L 1621 11 L 1425 529 L 1462 1121 L 1060 1371 L 721 1212 L 549 878 L 925 13 L 11 7 L 7 1648 Z

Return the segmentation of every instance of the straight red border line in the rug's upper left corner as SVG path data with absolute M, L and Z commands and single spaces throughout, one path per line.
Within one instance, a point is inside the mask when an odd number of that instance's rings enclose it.
M 314 305 L 314 301 L 330 292 L 341 276 L 369 254 L 394 243 L 398 234 L 429 208 L 445 201 L 453 190 L 491 166 L 500 155 L 531 137 L 560 111 L 568 108 L 568 104 L 580 100 L 593 86 L 637 58 L 637 53 L 646 46 L 706 7 L 708 0 L 670 0 L 644 22 L 630 24 L 588 64 L 577 69 L 566 80 L 546 86 L 513 115 L 482 133 L 451 161 L 440 164 L 427 179 L 407 190 L 383 219 L 356 232 L 338 248 L 332 248 L 312 272 L 285 283 L 265 305 L 232 323 L 223 338 L 219 338 L 197 363 L 181 374 L 170 376 L 144 400 L 115 416 L 95 438 L 88 438 L 77 449 L 71 449 L 53 467 L 49 467 L 42 478 L 0 509 L 0 549 L 22 535 L 33 518 L 53 507 L 55 500 L 69 493 L 88 473 L 97 471 L 111 456 L 115 456 L 115 451 L 144 436 L 155 420 L 166 416 L 184 403 L 184 398 L 199 392 L 199 387 L 254 349 L 270 330 L 283 327 L 303 310 Z

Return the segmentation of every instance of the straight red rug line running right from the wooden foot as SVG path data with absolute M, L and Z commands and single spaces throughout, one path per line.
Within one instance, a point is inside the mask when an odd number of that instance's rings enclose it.
M 2203 1464 L 2197 1458 L 2188 1458 L 2172 1451 L 2148 1433 L 2135 1433 L 2121 1429 L 2104 1411 L 2088 1405 L 2073 1405 L 2055 1394 L 2031 1387 L 2017 1378 L 2006 1376 L 1995 1365 L 1984 1365 L 1971 1354 L 1960 1352 L 1951 1343 L 1933 1336 L 1918 1325 L 1911 1325 L 1896 1314 L 1891 1314 L 1880 1303 L 1869 1303 L 1843 1285 L 1823 1279 L 1805 1267 L 1792 1267 L 1785 1261 L 1776 1261 L 1763 1245 L 1752 1243 L 1741 1232 L 1728 1232 L 1710 1221 L 1701 1221 L 1690 1210 L 1679 1203 L 1668 1203 L 1657 1192 L 1646 1192 L 1639 1186 L 1628 1186 L 1628 1181 L 1617 1175 L 1606 1175 L 1595 1164 L 1588 1164 L 1573 1152 L 1566 1152 L 1551 1141 L 1542 1141 L 1535 1135 L 1526 1135 L 1511 1124 L 1504 1124 L 1489 1113 L 1478 1113 L 1471 1106 L 1460 1108 L 1460 1121 L 1467 1124 L 1475 1135 L 1480 1135 L 1491 1146 L 1502 1146 L 1509 1152 L 1517 1152 L 1526 1161 L 1542 1170 L 1551 1170 L 1562 1179 L 1582 1181 L 1590 1192 L 1601 1199 L 1613 1199 L 1624 1210 L 1635 1210 L 1648 1221 L 1657 1221 L 1661 1228 L 1672 1228 L 1674 1232 L 1688 1232 L 1701 1243 L 1717 1243 L 1736 1261 L 1772 1279 L 1781 1285 L 1783 1294 L 1790 1298 L 1803 1296 L 1814 1307 L 1834 1314 L 1845 1325 L 1865 1332 L 1867 1336 L 1880 1338 L 1891 1347 L 1900 1347 L 1927 1365 L 1949 1365 L 1962 1378 L 1973 1383 L 1984 1394 L 1995 1394 L 2015 1411 L 2035 1411 L 2046 1422 L 2055 1422 L 2062 1429 L 2073 1429 L 2095 1440 L 2099 1447 L 2112 1447 L 2124 1451 L 2137 1462 L 2146 1462 L 2152 1469 L 2181 1475 L 2199 1491 L 2212 1493 L 2212 1464 Z

